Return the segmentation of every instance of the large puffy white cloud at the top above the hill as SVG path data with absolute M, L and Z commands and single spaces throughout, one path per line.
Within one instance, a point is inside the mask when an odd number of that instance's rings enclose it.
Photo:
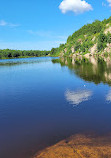
M 72 11 L 76 14 L 93 10 L 92 6 L 85 0 L 63 0 L 59 5 L 59 9 L 62 13 Z

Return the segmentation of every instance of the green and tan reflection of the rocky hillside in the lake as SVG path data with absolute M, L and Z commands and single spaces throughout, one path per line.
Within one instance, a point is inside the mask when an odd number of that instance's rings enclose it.
M 111 85 L 111 58 L 97 58 L 88 56 L 87 58 L 78 56 L 73 58 L 58 59 L 61 66 L 67 65 L 71 72 L 86 81 L 96 84 L 103 82 Z

